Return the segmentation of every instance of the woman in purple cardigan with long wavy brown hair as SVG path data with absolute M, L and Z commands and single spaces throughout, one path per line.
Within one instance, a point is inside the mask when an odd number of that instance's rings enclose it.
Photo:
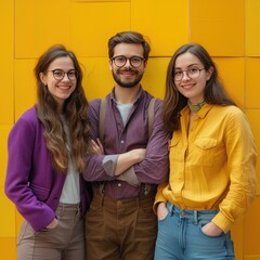
M 89 204 L 80 173 L 89 152 L 88 102 L 72 51 L 51 47 L 35 67 L 38 103 L 12 128 L 5 193 L 25 219 L 17 259 L 84 260 Z

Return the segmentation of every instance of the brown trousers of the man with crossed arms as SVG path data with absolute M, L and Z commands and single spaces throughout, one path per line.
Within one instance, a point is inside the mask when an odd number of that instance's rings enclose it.
M 95 194 L 87 213 L 87 260 L 153 260 L 154 195 L 114 200 Z

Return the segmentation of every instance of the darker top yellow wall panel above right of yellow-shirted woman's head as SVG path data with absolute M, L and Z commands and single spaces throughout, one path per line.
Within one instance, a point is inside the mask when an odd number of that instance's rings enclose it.
M 243 56 L 244 0 L 191 0 L 191 41 L 214 56 Z

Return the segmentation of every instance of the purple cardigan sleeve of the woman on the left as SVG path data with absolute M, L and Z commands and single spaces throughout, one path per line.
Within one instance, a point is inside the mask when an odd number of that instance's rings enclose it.
M 39 231 L 55 218 L 55 212 L 44 203 L 50 190 L 32 183 L 34 150 L 37 136 L 32 121 L 20 118 L 9 134 L 4 191 L 32 229 Z

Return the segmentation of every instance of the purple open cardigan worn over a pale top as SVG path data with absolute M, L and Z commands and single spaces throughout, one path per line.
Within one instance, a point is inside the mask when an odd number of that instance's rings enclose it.
M 66 177 L 52 167 L 43 130 L 34 106 L 17 120 L 8 141 L 4 192 L 35 231 L 46 227 L 55 218 Z M 90 195 L 81 174 L 80 199 L 83 216 Z

